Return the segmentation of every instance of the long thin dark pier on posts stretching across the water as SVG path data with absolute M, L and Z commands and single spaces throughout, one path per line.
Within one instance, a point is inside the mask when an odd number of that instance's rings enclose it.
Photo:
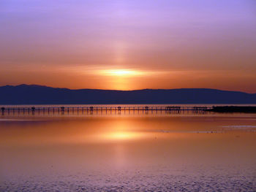
M 212 107 L 179 107 L 179 106 L 90 106 L 90 107 L 1 107 L 1 115 L 35 115 L 35 114 L 94 114 L 94 113 L 181 113 L 194 112 L 203 113 L 211 110 Z

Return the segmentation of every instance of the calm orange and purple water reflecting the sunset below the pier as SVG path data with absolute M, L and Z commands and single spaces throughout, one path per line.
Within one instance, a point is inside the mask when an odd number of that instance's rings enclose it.
M 256 191 L 256 115 L 0 117 L 0 191 Z

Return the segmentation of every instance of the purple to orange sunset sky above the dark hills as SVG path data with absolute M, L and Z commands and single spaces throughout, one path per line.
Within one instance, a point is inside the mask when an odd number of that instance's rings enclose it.
M 255 0 L 0 0 L 0 85 L 256 93 Z

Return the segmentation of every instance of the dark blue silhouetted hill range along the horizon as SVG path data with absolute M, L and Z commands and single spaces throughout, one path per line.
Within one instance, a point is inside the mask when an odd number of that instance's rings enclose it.
M 113 91 L 6 85 L 0 87 L 0 104 L 256 104 L 256 94 L 208 88 Z

